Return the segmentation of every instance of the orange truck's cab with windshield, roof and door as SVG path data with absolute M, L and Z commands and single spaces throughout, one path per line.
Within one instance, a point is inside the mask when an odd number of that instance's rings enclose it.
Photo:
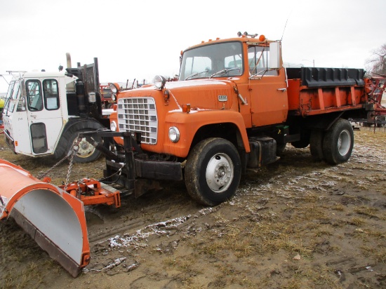
M 280 48 L 279 41 L 267 41 L 263 35 L 202 43 L 183 53 L 180 81 L 228 79 L 237 87 L 236 109 L 247 127 L 282 123 L 288 100 Z

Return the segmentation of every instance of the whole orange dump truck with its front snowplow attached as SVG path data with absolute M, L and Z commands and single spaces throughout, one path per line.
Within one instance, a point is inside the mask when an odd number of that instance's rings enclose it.
M 363 69 L 286 69 L 281 42 L 262 35 L 202 42 L 180 61 L 179 81 L 156 76 L 133 90 L 111 83 L 112 131 L 79 135 L 105 154 L 105 180 L 135 196 L 161 180 L 183 180 L 193 199 L 215 206 L 236 193 L 247 168 L 277 161 L 289 143 L 310 145 L 317 161 L 345 162 L 354 145 L 349 120 L 373 114 L 380 93 Z M 103 145 L 95 141 L 100 137 Z M 25 185 L 9 182 L 17 175 Z M 95 180 L 55 187 L 6 161 L 0 177 L 7 177 L 0 182 L 0 218 L 17 211 L 19 224 L 77 276 L 90 261 L 83 206 L 120 206 L 121 193 Z M 51 215 L 69 221 L 51 230 Z

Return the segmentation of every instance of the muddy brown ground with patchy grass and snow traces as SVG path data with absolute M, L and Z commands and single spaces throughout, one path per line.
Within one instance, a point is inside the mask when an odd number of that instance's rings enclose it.
M 220 206 L 164 184 L 121 208 L 88 208 L 91 264 L 78 278 L 13 220 L 0 222 L 1 288 L 386 288 L 386 133 L 355 131 L 339 166 L 288 145 L 276 163 L 248 171 Z M 0 157 L 39 175 L 47 159 Z M 50 175 L 65 181 L 67 164 Z M 101 177 L 104 160 L 75 165 L 70 180 Z M 7 180 L 1 180 L 4 182 Z

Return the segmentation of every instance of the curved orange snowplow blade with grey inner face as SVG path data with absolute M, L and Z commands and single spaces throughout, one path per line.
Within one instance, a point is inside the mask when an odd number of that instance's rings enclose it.
M 9 216 L 73 277 L 90 262 L 83 203 L 0 159 L 0 220 Z

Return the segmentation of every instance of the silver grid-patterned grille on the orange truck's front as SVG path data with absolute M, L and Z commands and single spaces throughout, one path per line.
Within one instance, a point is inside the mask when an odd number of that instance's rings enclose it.
M 154 98 L 118 100 L 119 131 L 141 133 L 141 142 L 157 144 L 158 119 Z

